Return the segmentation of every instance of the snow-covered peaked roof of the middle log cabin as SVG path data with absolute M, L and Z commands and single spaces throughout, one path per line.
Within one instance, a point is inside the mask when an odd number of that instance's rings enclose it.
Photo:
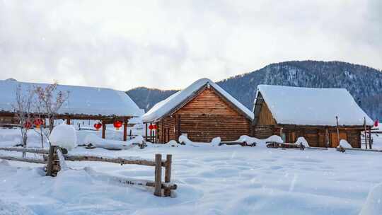
M 236 108 L 241 110 L 248 118 L 250 118 L 250 120 L 253 120 L 253 112 L 248 110 L 248 108 L 245 108 L 243 104 L 236 100 L 236 98 L 233 98 L 232 95 L 224 91 L 224 89 L 214 83 L 214 81 L 209 79 L 199 79 L 182 91 L 178 91 L 177 93 L 170 95 L 170 97 L 166 98 L 165 100 L 156 103 L 153 108 L 151 108 L 148 112 L 146 112 L 145 115 L 143 115 L 143 122 L 153 122 L 160 119 L 164 115 L 168 114 L 171 110 L 178 107 L 178 105 L 181 105 L 183 102 L 185 102 L 185 100 L 187 100 L 187 98 L 190 98 L 194 93 L 199 91 L 199 89 L 206 86 L 207 84 L 209 84 L 212 88 L 223 95 L 224 98 L 235 105 Z

